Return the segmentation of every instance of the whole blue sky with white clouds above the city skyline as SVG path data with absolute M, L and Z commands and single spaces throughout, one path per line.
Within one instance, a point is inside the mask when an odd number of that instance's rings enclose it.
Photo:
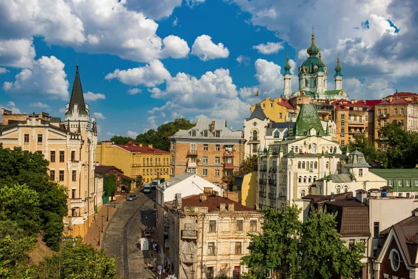
M 351 98 L 418 91 L 413 0 L 0 0 L 0 106 L 63 117 L 78 58 L 100 140 L 184 116 L 241 128 L 316 45 Z M 296 76 L 292 80 L 297 90 Z M 254 97 L 259 90 L 260 95 Z

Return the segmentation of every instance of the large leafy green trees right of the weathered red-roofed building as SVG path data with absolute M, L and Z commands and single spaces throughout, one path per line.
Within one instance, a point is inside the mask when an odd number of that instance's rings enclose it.
M 311 209 L 302 224 L 296 205 L 263 212 L 263 234 L 250 234 L 250 255 L 242 257 L 242 264 L 249 267 L 245 278 L 263 278 L 265 269 L 280 278 L 322 279 L 333 274 L 348 278 L 362 269 L 364 245 L 344 246 L 333 214 Z

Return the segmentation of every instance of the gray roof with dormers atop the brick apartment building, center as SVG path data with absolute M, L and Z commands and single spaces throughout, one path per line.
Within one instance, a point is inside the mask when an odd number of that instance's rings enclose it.
M 219 139 L 242 139 L 242 131 L 233 131 L 226 127 L 226 119 L 208 119 L 208 118 L 199 118 L 196 121 L 196 126 L 190 128 L 189 130 L 178 130 L 176 134 L 173 135 L 173 138 L 176 137 L 192 137 L 191 131 L 196 130 L 196 138 L 218 138 L 210 133 L 210 128 L 212 126 L 212 121 L 215 121 L 215 130 L 220 131 Z M 208 137 L 204 137 L 203 131 L 208 130 Z

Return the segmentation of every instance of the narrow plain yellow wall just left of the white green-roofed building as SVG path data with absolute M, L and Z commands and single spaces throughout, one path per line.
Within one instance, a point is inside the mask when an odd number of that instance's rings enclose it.
M 238 193 L 238 201 L 247 207 L 254 208 L 257 194 L 257 172 L 235 176 L 233 191 Z

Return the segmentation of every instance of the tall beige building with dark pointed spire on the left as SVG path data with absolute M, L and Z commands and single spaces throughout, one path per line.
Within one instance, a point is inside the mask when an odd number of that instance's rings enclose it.
M 79 70 L 75 75 L 65 121 L 40 114 L 12 114 L 1 109 L 3 125 L 0 142 L 12 149 L 41 153 L 49 160 L 49 175 L 68 189 L 68 216 L 64 218 L 64 234 L 84 236 L 98 206 L 102 193 L 95 184 L 95 119 L 84 103 Z M 100 178 L 96 177 L 96 181 Z M 101 187 L 102 189 L 102 187 Z

